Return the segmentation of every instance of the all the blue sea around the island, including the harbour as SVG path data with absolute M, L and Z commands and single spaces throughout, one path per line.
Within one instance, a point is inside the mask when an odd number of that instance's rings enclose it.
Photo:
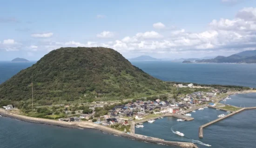
M 0 62 L 0 83 L 35 62 Z M 255 64 L 184 64 L 168 61 L 132 62 L 148 74 L 168 81 L 194 82 L 256 87 Z M 256 93 L 231 95 L 226 104 L 256 106 Z M 205 108 L 190 112 L 195 119 L 177 122 L 175 117 L 156 119 L 154 123 L 143 123 L 135 133 L 170 141 L 194 142 L 199 148 L 255 148 L 256 110 L 242 111 L 203 130 L 198 137 L 199 126 L 215 120 L 219 114 L 228 114 Z M 184 137 L 174 132 L 184 133 Z M 0 148 L 175 148 L 160 144 L 140 142 L 121 136 L 109 135 L 94 129 L 71 129 L 58 126 L 28 123 L 0 117 Z

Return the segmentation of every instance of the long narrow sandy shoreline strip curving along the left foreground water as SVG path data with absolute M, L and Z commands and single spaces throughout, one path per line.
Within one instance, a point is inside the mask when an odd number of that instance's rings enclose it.
M 14 114 L 14 113 L 6 111 L 4 109 L 0 109 L 0 115 L 4 116 L 4 117 L 18 119 L 21 121 L 31 122 L 31 123 L 42 123 L 42 124 L 56 125 L 56 126 L 67 127 L 67 128 L 97 129 L 97 130 L 106 132 L 108 134 L 123 136 L 123 137 L 132 138 L 132 139 L 140 140 L 140 141 L 144 141 L 144 142 L 161 143 L 161 144 L 172 145 L 172 146 L 177 146 L 177 147 L 182 147 L 182 148 L 198 148 L 195 144 L 190 143 L 190 142 L 171 142 L 171 141 L 165 141 L 165 140 L 154 138 L 154 137 L 142 136 L 142 135 L 137 135 L 137 134 L 126 134 L 119 130 L 111 129 L 109 127 L 106 127 L 106 126 L 103 126 L 100 124 L 95 124 L 95 123 L 86 122 L 86 121 L 63 122 L 63 121 L 44 119 L 44 118 L 27 117 L 27 116 Z

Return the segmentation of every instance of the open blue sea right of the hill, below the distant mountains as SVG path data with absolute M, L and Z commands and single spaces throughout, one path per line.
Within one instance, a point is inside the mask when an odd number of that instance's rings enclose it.
M 146 73 L 165 81 L 256 87 L 256 64 L 132 62 Z

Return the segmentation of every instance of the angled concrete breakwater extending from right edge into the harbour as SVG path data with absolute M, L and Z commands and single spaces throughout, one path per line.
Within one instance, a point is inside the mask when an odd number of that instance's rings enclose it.
M 213 107 L 213 108 L 214 108 L 214 107 Z M 219 108 L 219 109 L 221 110 L 221 108 Z M 211 124 L 213 124 L 213 123 L 216 123 L 216 122 L 218 122 L 218 121 L 220 121 L 220 120 L 222 120 L 222 119 L 225 119 L 225 118 L 227 118 L 227 117 L 230 117 L 230 116 L 232 116 L 232 115 L 235 115 L 235 114 L 238 113 L 238 112 L 241 112 L 241 111 L 244 111 L 244 110 L 250 110 L 250 109 L 256 109 L 256 106 L 255 106 L 255 107 L 244 107 L 244 108 L 242 108 L 242 109 L 240 109 L 240 110 L 238 110 L 238 111 L 232 111 L 232 113 L 230 113 L 230 114 L 228 114 L 228 115 L 226 115 L 226 116 L 224 116 L 224 117 L 220 117 L 220 118 L 218 118 L 218 119 L 216 119 L 216 120 L 213 120 L 213 121 L 211 121 L 211 122 L 209 122 L 209 123 L 206 123 L 206 124 L 201 125 L 201 126 L 199 127 L 199 137 L 200 137 L 200 138 L 203 137 L 203 128 L 204 128 L 204 127 L 209 126 L 209 125 L 211 125 Z M 224 110 L 224 109 L 222 109 L 222 110 Z M 224 111 L 227 111 L 227 110 L 224 110 Z M 230 111 L 230 112 L 231 112 L 231 111 Z

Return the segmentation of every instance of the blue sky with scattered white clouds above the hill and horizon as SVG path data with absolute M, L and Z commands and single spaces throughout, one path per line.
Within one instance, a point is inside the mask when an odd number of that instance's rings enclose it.
M 61 47 L 126 58 L 230 56 L 256 49 L 256 0 L 1 0 L 0 61 Z

